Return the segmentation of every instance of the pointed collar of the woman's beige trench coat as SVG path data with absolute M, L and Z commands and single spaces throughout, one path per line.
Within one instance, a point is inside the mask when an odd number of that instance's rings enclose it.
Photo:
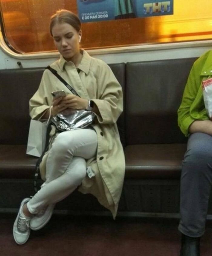
M 84 73 L 86 73 L 86 75 L 88 75 L 90 65 L 91 65 L 91 56 L 84 49 L 80 49 L 80 52 L 82 54 L 82 59 L 77 68 L 82 70 Z M 68 61 L 65 60 L 61 55 L 59 59 L 59 67 L 61 71 L 64 70 L 64 66 L 66 63 L 68 63 Z

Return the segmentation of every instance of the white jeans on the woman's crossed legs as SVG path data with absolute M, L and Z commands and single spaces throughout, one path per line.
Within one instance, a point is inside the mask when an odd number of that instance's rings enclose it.
M 61 132 L 49 151 L 46 182 L 27 203 L 36 214 L 43 207 L 57 203 L 71 194 L 86 176 L 86 161 L 96 155 L 97 135 L 92 129 Z

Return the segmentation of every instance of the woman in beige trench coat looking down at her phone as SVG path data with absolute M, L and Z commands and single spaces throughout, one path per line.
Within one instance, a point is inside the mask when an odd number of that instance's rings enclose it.
M 124 180 L 124 152 L 116 125 L 123 110 L 121 85 L 106 63 L 80 49 L 81 22 L 75 14 L 57 11 L 51 17 L 50 33 L 61 54 L 51 68 L 81 97 L 71 94 L 47 69 L 29 102 L 31 118 L 48 119 L 50 113 L 55 116 L 65 109 L 92 109 L 96 120 L 88 128 L 56 134 L 40 164 L 45 182 L 31 199 L 21 203 L 13 227 L 17 244 L 28 240 L 30 230 L 41 229 L 51 218 L 55 203 L 77 187 L 93 194 L 115 218 Z M 64 90 L 67 96 L 53 99 L 51 92 L 56 90 Z M 87 167 L 92 170 L 91 178 Z

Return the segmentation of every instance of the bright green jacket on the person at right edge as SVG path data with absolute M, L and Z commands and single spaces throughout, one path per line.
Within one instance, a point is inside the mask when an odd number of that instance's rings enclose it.
M 178 125 L 185 136 L 195 120 L 209 120 L 206 113 L 202 81 L 212 76 L 212 51 L 204 53 L 194 62 L 184 89 L 181 105 L 177 111 Z

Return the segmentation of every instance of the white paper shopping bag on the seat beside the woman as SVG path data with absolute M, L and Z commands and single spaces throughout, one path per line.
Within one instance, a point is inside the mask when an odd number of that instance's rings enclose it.
M 27 155 L 40 157 L 45 148 L 47 122 L 30 121 L 27 143 Z

